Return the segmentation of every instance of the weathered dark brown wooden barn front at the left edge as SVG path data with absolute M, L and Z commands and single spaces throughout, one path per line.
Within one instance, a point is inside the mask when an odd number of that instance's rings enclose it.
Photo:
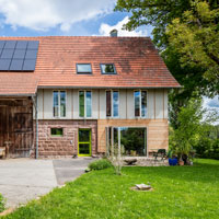
M 30 157 L 33 137 L 32 99 L 0 99 L 0 147 L 7 148 L 7 157 Z

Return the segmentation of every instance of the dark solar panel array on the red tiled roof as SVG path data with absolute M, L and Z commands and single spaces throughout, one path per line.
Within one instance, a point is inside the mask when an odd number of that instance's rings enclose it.
M 0 71 L 34 71 L 38 41 L 0 41 Z

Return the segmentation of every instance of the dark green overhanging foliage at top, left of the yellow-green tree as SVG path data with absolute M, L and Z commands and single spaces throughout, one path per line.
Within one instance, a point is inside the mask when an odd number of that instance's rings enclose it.
M 175 18 L 181 18 L 191 7 L 189 0 L 118 0 L 116 11 L 130 12 L 125 28 L 132 31 L 141 25 L 152 25 L 153 42 L 164 48 L 168 44 L 165 27 Z

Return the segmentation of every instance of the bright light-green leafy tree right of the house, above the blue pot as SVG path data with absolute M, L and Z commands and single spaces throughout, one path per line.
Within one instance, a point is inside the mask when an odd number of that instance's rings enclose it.
M 177 117 L 178 127 L 170 131 L 170 146 L 178 158 L 183 154 L 189 155 L 193 148 L 198 148 L 210 123 L 219 118 L 217 112 L 206 113 L 200 99 L 191 99 L 186 107 L 181 107 Z

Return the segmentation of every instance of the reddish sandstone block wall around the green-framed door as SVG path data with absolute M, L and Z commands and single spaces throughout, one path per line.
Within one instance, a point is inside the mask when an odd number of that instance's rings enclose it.
M 34 129 L 36 128 L 34 124 Z M 50 128 L 64 128 L 61 137 L 50 135 Z M 97 122 L 96 120 L 38 120 L 38 157 L 39 158 L 71 158 L 78 155 L 78 130 L 91 128 L 92 155 L 97 153 Z M 36 131 L 34 130 L 34 134 Z M 36 136 L 34 136 L 34 142 Z M 33 154 L 32 157 L 34 157 Z

